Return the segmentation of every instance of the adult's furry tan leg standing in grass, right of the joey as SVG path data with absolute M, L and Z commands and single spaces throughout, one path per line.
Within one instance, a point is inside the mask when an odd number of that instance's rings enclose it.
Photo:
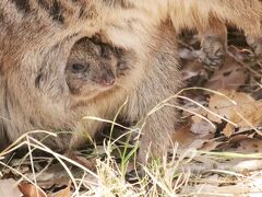
M 180 83 L 177 40 L 171 24 L 159 26 L 154 38 L 155 46 L 150 48 L 143 63 L 144 78 L 129 97 L 127 108 L 131 121 L 145 118 L 139 151 L 139 162 L 143 164 L 151 159 L 162 159 L 167 153 L 177 123 L 177 111 L 172 106 L 164 106 L 148 115 L 159 102 L 175 95 Z

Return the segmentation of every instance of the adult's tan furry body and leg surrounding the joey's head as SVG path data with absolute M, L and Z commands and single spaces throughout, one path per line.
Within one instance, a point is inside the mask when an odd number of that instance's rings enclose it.
M 260 36 L 261 10 L 257 0 L 2 0 L 0 139 L 13 141 L 34 129 L 73 129 L 70 140 L 53 143 L 75 147 L 84 142 L 83 131 L 92 137 L 102 127 L 98 121 L 83 121 L 83 116 L 111 119 L 127 97 L 121 115 L 131 121 L 143 118 L 174 94 L 180 81 L 174 32 L 196 27 L 201 35 L 209 34 L 206 30 L 212 34 L 219 30 L 212 26 L 214 18 L 217 24 L 228 22 Z M 172 25 L 164 24 L 168 20 Z M 75 100 L 64 72 L 70 50 L 76 40 L 95 34 L 127 50 L 123 59 L 133 69 L 112 90 L 92 101 Z M 170 107 L 146 119 L 141 160 L 150 147 L 155 157 L 166 151 L 175 120 Z

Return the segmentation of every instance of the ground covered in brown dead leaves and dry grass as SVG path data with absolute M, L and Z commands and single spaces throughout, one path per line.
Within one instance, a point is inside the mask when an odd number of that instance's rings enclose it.
M 180 124 L 162 162 L 135 173 L 138 142 L 100 140 L 72 155 L 24 136 L 0 152 L 0 196 L 260 196 L 262 195 L 262 61 L 230 30 L 225 61 L 199 61 L 194 33 L 179 37 Z M 132 129 L 131 129 L 132 130 Z M 52 134 L 49 134 L 52 135 Z M 3 160 L 20 146 L 41 149 Z

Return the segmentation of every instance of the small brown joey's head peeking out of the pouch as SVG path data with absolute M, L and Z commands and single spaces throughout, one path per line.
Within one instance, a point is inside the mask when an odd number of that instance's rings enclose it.
M 66 66 L 66 80 L 75 96 L 95 96 L 112 89 L 129 70 L 124 51 L 88 37 L 78 40 Z

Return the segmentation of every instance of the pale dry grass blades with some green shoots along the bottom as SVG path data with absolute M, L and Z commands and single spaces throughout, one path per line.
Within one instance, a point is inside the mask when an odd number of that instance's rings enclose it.
M 206 91 L 205 89 L 201 90 Z M 210 92 L 223 95 L 215 91 Z M 147 114 L 147 116 L 162 107 L 181 108 L 179 106 L 168 104 L 168 101 L 180 97 L 194 103 L 198 107 L 203 108 L 207 113 L 212 113 L 234 126 L 237 125 L 227 120 L 225 117 L 211 112 L 203 105 L 181 96 L 180 94 L 181 92 L 160 102 Z M 233 104 L 236 104 L 236 102 L 231 101 L 226 95 L 223 96 L 229 100 Z M 120 111 L 121 108 L 119 112 Z M 194 115 L 196 114 L 195 112 L 189 109 L 187 109 L 187 112 L 191 112 Z M 201 114 L 198 116 L 214 126 L 206 117 Z M 141 135 L 141 129 L 135 127 L 126 128 L 117 124 L 116 118 L 112 121 L 97 117 L 84 118 L 110 123 L 112 125 L 111 130 L 114 129 L 114 126 L 122 127 L 128 130 L 126 135 L 130 135 L 132 132 L 135 132 L 138 136 Z M 175 143 L 170 149 L 168 157 L 165 155 L 162 161 L 153 161 L 147 166 L 142 166 L 144 176 L 141 178 L 138 175 L 138 166 L 135 165 L 135 153 L 139 148 L 139 142 L 130 146 L 129 141 L 127 141 L 123 143 L 123 148 L 120 149 L 116 146 L 117 140 L 104 141 L 104 154 L 95 158 L 96 171 L 91 171 L 74 160 L 53 152 L 51 149 L 41 143 L 41 141 L 34 139 L 32 134 L 35 132 L 46 134 L 47 137 L 56 136 L 53 132 L 48 131 L 32 131 L 25 134 L 0 153 L 0 165 L 3 166 L 1 171 L 2 176 L 7 176 L 5 173 L 11 171 L 12 174 L 15 175 L 17 183 L 21 183 L 22 181 L 28 182 L 38 188 L 38 195 L 41 192 L 43 194 L 47 194 L 43 189 L 41 176 L 46 176 L 47 170 L 51 166 L 53 160 L 60 163 L 66 172 L 64 174 L 67 174 L 68 179 L 70 179 L 72 185 L 71 196 L 246 196 L 247 194 L 262 193 L 262 172 L 260 171 L 260 169 L 262 169 L 262 162 L 260 161 L 262 159 L 261 153 L 243 154 L 223 151 L 212 152 L 195 150 L 193 148 L 182 150 L 179 149 L 178 143 Z M 122 136 L 120 136 L 119 139 L 120 138 L 122 138 Z M 3 162 L 4 157 L 22 146 L 27 147 L 28 149 L 27 154 L 25 154 L 23 159 L 19 160 L 15 164 L 14 162 Z M 100 148 L 102 147 L 99 147 L 99 149 Z M 95 147 L 95 149 L 98 149 L 98 147 Z M 46 165 L 41 166 L 40 170 L 37 164 L 38 158 L 33 155 L 35 150 L 41 150 L 51 155 L 48 158 L 41 158 L 41 160 L 46 161 Z M 117 158 L 118 160 L 114 154 L 114 150 L 117 150 L 119 153 L 119 158 Z M 99 151 L 94 150 L 94 152 Z M 250 161 L 250 163 L 245 165 L 246 167 L 239 169 L 240 163 L 236 164 L 236 162 L 231 162 L 239 161 L 239 159 Z M 242 162 L 242 160 L 239 162 Z M 257 162 L 257 167 L 250 169 L 253 166 L 252 162 Z M 31 170 L 24 172 L 22 166 L 29 166 Z M 130 166 L 132 166 L 131 169 L 134 171 L 133 174 L 135 176 L 135 182 L 131 182 L 130 178 L 127 178 L 127 174 L 130 173 Z

